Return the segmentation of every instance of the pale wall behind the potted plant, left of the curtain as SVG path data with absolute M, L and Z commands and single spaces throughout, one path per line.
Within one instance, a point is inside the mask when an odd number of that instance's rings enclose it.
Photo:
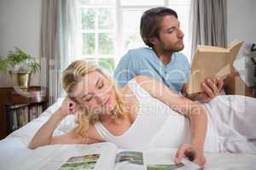
M 39 59 L 41 0 L 0 1 L 0 55 L 5 56 L 14 47 Z M 32 76 L 32 85 L 38 85 L 38 76 Z M 9 86 L 9 77 L 0 73 L 0 87 Z

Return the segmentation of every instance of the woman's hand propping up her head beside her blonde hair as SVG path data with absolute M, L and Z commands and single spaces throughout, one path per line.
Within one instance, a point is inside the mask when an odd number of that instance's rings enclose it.
M 72 99 L 66 97 L 57 112 L 63 117 L 74 115 L 76 113 L 76 106 L 76 103 Z

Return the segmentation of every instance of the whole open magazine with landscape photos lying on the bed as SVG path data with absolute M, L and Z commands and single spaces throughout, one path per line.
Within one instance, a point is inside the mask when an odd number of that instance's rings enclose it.
M 43 147 L 44 148 L 44 147 Z M 195 163 L 183 159 L 173 162 L 177 150 L 120 150 L 111 143 L 66 144 L 51 151 L 35 169 L 61 170 L 197 170 Z

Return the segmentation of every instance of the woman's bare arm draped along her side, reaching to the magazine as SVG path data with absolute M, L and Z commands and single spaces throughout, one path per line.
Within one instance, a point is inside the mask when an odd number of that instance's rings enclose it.
M 166 85 L 153 78 L 138 76 L 136 77 L 136 81 L 142 88 L 148 91 L 151 96 L 160 99 L 160 101 L 169 105 L 173 110 L 189 118 L 192 148 L 195 149 L 195 156 L 200 156 L 200 160 L 204 160 L 203 150 L 207 133 L 207 115 L 201 105 L 185 98 L 182 94 L 177 94 L 177 92 L 172 91 L 170 88 L 166 87 Z M 184 150 L 183 148 L 184 147 L 181 147 L 181 150 L 178 150 L 179 154 L 177 156 L 186 155 L 186 151 L 191 149 L 186 147 Z M 195 157 L 195 161 L 201 166 L 205 163 L 205 161 L 198 162 L 198 157 Z

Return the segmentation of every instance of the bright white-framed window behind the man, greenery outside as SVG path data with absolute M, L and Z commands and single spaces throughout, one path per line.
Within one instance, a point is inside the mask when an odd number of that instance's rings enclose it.
M 145 46 L 140 37 L 140 19 L 145 10 L 166 6 L 177 11 L 187 35 L 190 0 L 78 0 L 79 33 L 82 49 L 79 58 L 95 59 L 113 71 L 120 57 L 131 48 Z M 186 45 L 186 37 L 184 37 Z M 186 54 L 186 49 L 183 51 Z

